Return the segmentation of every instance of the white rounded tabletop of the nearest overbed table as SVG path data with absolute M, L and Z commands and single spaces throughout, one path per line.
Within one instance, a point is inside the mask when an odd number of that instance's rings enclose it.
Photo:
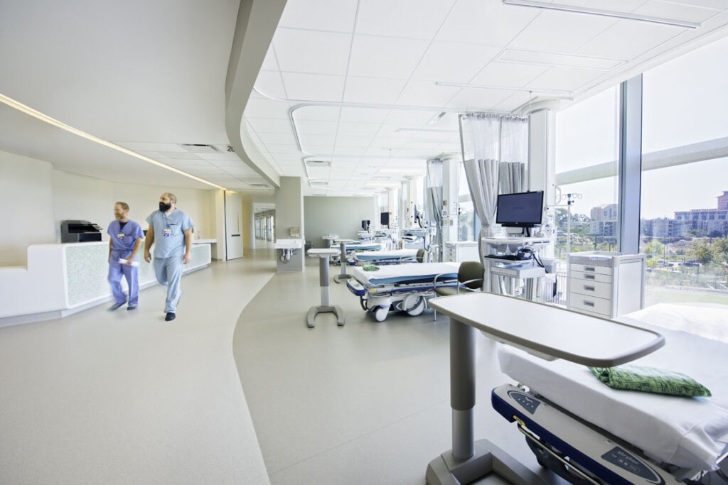
M 429 305 L 499 342 L 587 366 L 624 364 L 665 345 L 652 330 L 501 294 L 440 297 Z

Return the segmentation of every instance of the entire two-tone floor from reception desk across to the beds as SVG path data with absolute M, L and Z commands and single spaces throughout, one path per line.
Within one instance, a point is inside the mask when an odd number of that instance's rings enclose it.
M 263 246 L 184 276 L 173 322 L 152 286 L 135 312 L 0 328 L 0 483 L 424 484 L 451 446 L 447 318 L 377 323 L 332 283 L 346 325 L 308 329 L 317 260 L 274 273 Z M 478 335 L 475 437 L 537 470 Z

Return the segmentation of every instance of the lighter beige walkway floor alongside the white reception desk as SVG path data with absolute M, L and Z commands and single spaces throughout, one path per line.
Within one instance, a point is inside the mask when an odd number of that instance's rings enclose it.
M 0 484 L 266 484 L 232 335 L 272 251 L 108 305 L 0 329 Z

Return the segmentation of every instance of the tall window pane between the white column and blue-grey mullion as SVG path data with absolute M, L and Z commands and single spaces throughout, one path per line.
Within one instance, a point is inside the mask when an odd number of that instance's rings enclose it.
M 555 256 L 561 260 L 568 252 L 617 250 L 618 113 L 614 87 L 556 114 Z

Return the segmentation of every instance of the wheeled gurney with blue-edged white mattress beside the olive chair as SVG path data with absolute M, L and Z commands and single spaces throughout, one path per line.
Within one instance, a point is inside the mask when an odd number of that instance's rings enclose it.
M 435 285 L 457 286 L 458 268 L 459 263 L 454 262 L 384 265 L 377 271 L 357 267 L 347 288 L 377 321 L 384 321 L 390 310 L 416 316 L 427 308 L 427 300 L 435 297 Z

